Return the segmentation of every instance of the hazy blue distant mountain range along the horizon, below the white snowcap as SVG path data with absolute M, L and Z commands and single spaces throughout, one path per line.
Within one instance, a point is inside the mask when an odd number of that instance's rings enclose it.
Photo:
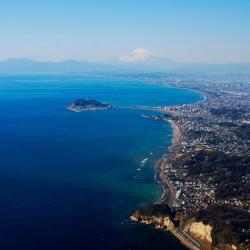
M 103 63 L 86 61 L 40 62 L 27 58 L 0 61 L 0 74 L 69 74 L 94 72 L 168 72 L 182 74 L 250 74 L 250 63 L 180 63 L 165 58 L 149 57 L 144 61 Z

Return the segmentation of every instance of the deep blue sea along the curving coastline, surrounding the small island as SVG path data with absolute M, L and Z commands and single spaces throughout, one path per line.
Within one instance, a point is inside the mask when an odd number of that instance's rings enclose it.
M 171 127 L 142 118 L 148 111 L 65 109 L 86 97 L 118 106 L 202 99 L 114 77 L 0 77 L 0 249 L 185 249 L 166 232 L 128 221 L 161 195 L 154 164 Z

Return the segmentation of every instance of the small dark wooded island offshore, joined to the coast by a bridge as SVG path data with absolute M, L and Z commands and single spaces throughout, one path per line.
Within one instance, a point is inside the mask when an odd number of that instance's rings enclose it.
M 98 111 L 111 109 L 112 105 L 101 103 L 93 99 L 77 99 L 66 107 L 73 112 Z

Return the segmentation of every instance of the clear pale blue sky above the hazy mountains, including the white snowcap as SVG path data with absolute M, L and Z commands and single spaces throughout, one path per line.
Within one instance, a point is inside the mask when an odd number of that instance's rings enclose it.
M 0 60 L 250 62 L 249 0 L 0 0 Z

